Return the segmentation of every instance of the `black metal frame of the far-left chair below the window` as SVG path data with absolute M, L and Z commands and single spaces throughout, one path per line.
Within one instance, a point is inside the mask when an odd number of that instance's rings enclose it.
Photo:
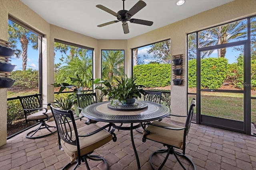
M 47 125 L 45 122 L 48 121 L 52 116 L 52 114 L 49 116 L 48 115 L 48 109 L 46 107 L 42 107 L 41 101 L 38 98 L 38 94 L 32 94 L 32 95 L 28 95 L 28 96 L 18 96 L 18 99 L 20 100 L 21 106 L 23 108 L 24 111 L 24 115 L 25 115 L 25 119 L 26 119 L 26 123 L 28 123 L 28 121 L 37 121 L 40 122 L 40 126 L 37 129 L 34 129 L 30 132 L 28 132 L 26 134 L 27 138 L 30 139 L 37 139 L 37 138 L 41 138 L 41 137 L 45 137 L 48 135 L 51 135 L 53 133 L 55 133 L 57 131 L 54 130 L 50 130 L 49 128 L 56 128 L 55 126 L 50 126 Z M 34 114 L 34 112 L 38 111 L 38 110 L 45 110 L 42 112 L 42 118 L 38 118 L 38 119 L 31 119 L 28 120 L 28 114 Z M 37 135 L 34 136 L 40 129 L 47 129 L 50 133 L 46 133 L 46 134 L 42 134 L 42 135 Z

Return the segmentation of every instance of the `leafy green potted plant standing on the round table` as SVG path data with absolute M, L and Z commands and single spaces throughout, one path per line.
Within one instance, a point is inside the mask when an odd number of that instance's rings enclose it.
M 142 94 L 144 95 L 142 88 L 145 86 L 136 84 L 133 77 L 128 78 L 126 75 L 116 81 L 117 85 L 111 88 L 109 96 L 123 105 L 133 105 L 136 99 L 141 98 Z

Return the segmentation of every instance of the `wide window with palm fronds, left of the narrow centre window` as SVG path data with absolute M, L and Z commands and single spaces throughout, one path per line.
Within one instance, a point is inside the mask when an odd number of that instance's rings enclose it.
M 93 49 L 55 39 L 54 54 L 55 83 L 72 84 L 70 78 L 79 78 L 84 87 L 92 85 Z M 73 85 L 81 86 L 78 82 Z

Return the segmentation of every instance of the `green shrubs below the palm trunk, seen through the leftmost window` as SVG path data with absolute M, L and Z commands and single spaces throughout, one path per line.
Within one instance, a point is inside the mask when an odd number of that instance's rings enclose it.
M 38 70 L 16 70 L 12 72 L 12 79 L 16 80 L 13 86 L 38 88 Z

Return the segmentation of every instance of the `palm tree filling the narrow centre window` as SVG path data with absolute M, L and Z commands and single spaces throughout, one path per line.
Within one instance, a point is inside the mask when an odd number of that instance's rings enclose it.
M 113 83 L 113 78 L 124 76 L 124 51 L 102 51 L 102 79 Z

